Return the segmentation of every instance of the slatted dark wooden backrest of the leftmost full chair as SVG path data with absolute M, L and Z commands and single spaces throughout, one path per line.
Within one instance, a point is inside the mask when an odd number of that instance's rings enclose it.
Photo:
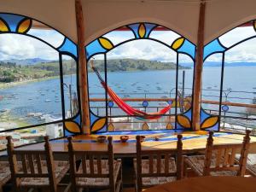
M 19 188 L 20 178 L 22 177 L 48 177 L 50 191 L 56 191 L 54 159 L 49 145 L 49 137 L 44 137 L 44 150 L 15 149 L 12 137 L 9 136 L 6 138 L 8 140 L 9 166 L 15 188 Z M 21 167 L 18 166 L 18 160 L 20 161 Z

